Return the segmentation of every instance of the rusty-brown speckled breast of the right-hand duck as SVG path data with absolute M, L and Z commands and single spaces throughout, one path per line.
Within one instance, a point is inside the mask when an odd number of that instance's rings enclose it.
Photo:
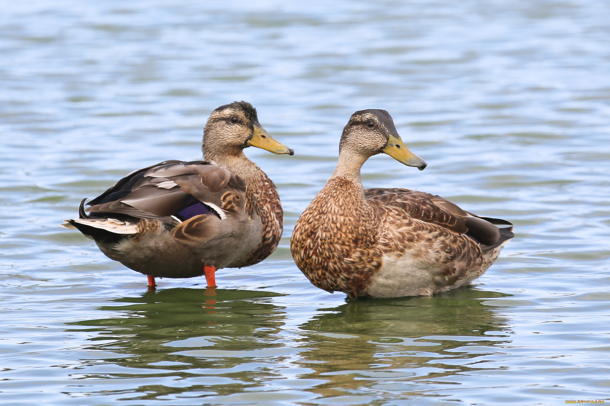
M 362 188 L 331 179 L 301 214 L 290 240 L 296 265 L 320 289 L 361 292 L 381 267 L 379 217 Z

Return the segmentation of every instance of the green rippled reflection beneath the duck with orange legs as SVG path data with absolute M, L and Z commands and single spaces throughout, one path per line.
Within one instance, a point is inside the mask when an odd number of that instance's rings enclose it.
M 93 327 L 68 331 L 98 333 L 89 339 L 95 345 L 86 349 L 121 354 L 120 357 L 110 355 L 95 364 L 122 367 L 118 372 L 96 373 L 91 360 L 87 360 L 84 369 L 90 372 L 79 379 L 117 380 L 120 389 L 90 394 L 130 395 L 118 401 L 167 399 L 185 393 L 189 397 L 226 395 L 256 385 L 258 380 L 269 376 L 257 359 L 264 359 L 265 351 L 273 352 L 282 346 L 268 336 L 279 331 L 286 317 L 282 307 L 271 303 L 271 298 L 283 295 L 224 289 L 216 289 L 215 293 L 206 296 L 206 290 L 186 288 L 147 292 L 139 297 L 113 300 L 124 303 L 122 306 L 99 308 L 115 311 L 117 317 L 68 323 Z M 243 359 L 213 354 L 198 357 L 188 354 L 194 348 L 262 352 Z M 130 380 L 132 385 L 124 387 L 121 380 Z M 189 384 L 193 380 L 196 383 Z M 137 385 L 140 381 L 153 383 Z M 179 383 L 174 385 L 174 382 Z

